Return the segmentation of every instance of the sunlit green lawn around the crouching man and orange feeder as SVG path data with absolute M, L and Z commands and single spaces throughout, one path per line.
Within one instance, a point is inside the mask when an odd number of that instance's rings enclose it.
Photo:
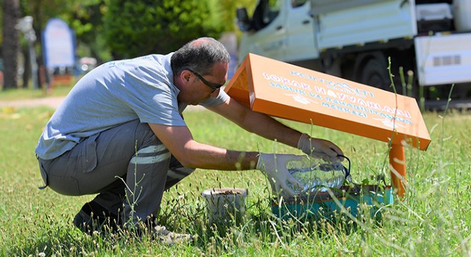
M 271 215 L 268 183 L 260 171 L 196 170 L 164 194 L 159 221 L 177 232 L 198 234 L 194 246 L 163 246 L 143 238 L 87 236 L 71 221 L 93 196 L 43 191 L 34 148 L 53 110 L 1 109 L 1 256 L 469 256 L 471 254 L 470 113 L 425 114 L 432 143 L 406 149 L 404 201 L 383 211 L 383 221 L 282 221 Z M 226 148 L 279 153 L 300 151 L 247 133 L 208 111 L 186 112 L 196 140 Z M 387 143 L 283 121 L 337 143 L 352 160 L 356 182 L 389 171 Z M 208 226 L 201 192 L 218 186 L 248 188 L 244 226 Z

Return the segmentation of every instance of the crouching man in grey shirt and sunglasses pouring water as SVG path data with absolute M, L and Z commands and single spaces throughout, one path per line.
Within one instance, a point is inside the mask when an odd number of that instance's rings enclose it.
M 299 156 L 197 142 L 183 121 L 188 105 L 204 106 L 247 131 L 305 153 L 342 154 L 330 141 L 310 138 L 231 99 L 221 90 L 229 60 L 221 43 L 200 38 L 171 54 L 110 61 L 78 81 L 36 147 L 46 186 L 68 196 L 97 194 L 76 214 L 75 226 L 90 231 L 107 222 L 115 228 L 145 228 L 167 243 L 191 241 L 190 235 L 157 226 L 155 217 L 163 191 L 195 168 L 256 168 L 277 193 L 294 193 L 287 182 L 298 181 L 285 163 Z

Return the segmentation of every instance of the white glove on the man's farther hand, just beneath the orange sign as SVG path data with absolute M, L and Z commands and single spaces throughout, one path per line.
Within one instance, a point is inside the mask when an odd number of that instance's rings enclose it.
M 339 155 L 343 156 L 342 150 L 334 143 L 320 138 L 312 138 L 306 133 L 300 136 L 298 149 L 310 156 L 323 158 L 324 161 L 333 161 Z M 340 157 L 340 161 L 343 161 L 342 157 Z

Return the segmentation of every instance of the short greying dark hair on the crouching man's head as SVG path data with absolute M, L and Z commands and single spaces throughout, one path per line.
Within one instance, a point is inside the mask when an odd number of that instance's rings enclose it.
M 171 57 L 173 75 L 191 69 L 198 74 L 211 74 L 214 64 L 231 61 L 231 56 L 221 42 L 210 37 L 194 39 L 178 49 Z

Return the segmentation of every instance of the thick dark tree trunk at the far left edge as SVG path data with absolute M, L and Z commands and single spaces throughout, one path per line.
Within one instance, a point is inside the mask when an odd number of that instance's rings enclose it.
M 15 28 L 19 20 L 19 0 L 4 0 L 4 90 L 18 87 L 19 31 Z

